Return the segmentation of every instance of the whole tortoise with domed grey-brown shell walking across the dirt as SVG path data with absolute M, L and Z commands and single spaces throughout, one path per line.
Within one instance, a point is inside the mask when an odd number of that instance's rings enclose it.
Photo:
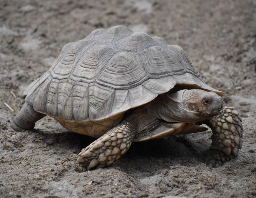
M 119 159 L 132 142 L 212 130 L 208 164 L 238 155 L 243 126 L 224 92 L 204 82 L 184 50 L 126 26 L 92 31 L 66 44 L 52 65 L 28 86 L 12 120 L 30 130 L 45 115 L 66 129 L 98 138 L 77 159 L 88 170 Z

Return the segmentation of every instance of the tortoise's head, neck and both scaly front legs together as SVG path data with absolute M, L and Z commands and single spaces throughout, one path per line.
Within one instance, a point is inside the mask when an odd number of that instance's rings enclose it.
M 83 148 L 78 162 L 88 170 L 111 165 L 128 151 L 136 134 L 153 130 L 162 121 L 208 123 L 213 131 L 207 159 L 211 167 L 237 156 L 242 146 L 241 119 L 232 107 L 223 107 L 220 96 L 203 90 L 180 90 L 174 94 L 162 94 L 136 109 L 119 125 Z

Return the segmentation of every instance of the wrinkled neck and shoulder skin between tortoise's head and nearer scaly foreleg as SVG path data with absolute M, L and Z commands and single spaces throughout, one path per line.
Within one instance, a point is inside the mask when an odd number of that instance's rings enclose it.
M 137 133 L 154 130 L 163 121 L 198 123 L 204 120 L 199 112 L 187 107 L 187 94 L 189 92 L 186 90 L 162 94 L 145 106 L 135 109 L 130 118 L 138 122 Z

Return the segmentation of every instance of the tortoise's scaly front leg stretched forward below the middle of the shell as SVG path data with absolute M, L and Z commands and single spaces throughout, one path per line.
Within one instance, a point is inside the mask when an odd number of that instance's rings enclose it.
M 111 165 L 130 148 L 137 130 L 129 120 L 109 130 L 99 139 L 83 148 L 77 161 L 85 164 L 87 170 L 93 167 Z

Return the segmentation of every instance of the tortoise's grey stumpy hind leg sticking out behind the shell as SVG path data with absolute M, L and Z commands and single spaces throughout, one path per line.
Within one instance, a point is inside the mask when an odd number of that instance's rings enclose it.
M 16 131 L 30 130 L 34 128 L 36 121 L 44 116 L 44 114 L 36 112 L 32 105 L 25 103 L 13 118 L 11 127 Z

